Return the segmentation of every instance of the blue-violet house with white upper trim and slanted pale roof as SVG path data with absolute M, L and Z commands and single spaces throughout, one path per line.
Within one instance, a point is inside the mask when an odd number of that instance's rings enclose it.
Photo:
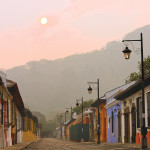
M 105 93 L 107 112 L 107 142 L 118 143 L 121 141 L 121 102 L 114 97 L 131 86 L 134 82 L 122 85 Z

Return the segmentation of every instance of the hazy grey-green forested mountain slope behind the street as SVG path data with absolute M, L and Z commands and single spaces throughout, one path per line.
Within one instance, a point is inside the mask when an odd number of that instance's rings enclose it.
M 116 31 L 117 32 L 117 31 Z M 150 55 L 150 25 L 127 34 L 124 39 L 140 39 L 143 33 L 144 56 Z M 132 49 L 132 45 L 129 46 Z M 134 43 L 134 49 L 140 43 Z M 109 42 L 104 48 L 91 53 L 68 56 L 63 59 L 28 62 L 6 71 L 16 81 L 25 104 L 47 116 L 75 106 L 76 99 L 96 99 L 97 91 L 87 92 L 87 81 L 100 79 L 100 95 L 125 83 L 131 72 L 137 71 L 140 54 L 134 52 L 125 60 L 121 41 Z M 42 52 L 42 50 L 41 50 Z

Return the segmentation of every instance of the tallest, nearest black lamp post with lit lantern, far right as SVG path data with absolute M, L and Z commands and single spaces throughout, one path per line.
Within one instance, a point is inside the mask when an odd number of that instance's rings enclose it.
M 141 126 L 141 134 L 143 135 L 142 138 L 142 149 L 147 148 L 147 139 L 146 139 L 146 134 L 147 134 L 147 128 L 145 127 L 145 98 L 144 98 L 144 63 L 143 63 L 143 35 L 142 33 L 140 34 L 140 39 L 139 40 L 123 40 L 122 42 L 141 42 L 141 69 L 142 69 L 142 122 L 143 125 Z M 131 50 L 126 46 L 125 50 L 122 51 L 124 53 L 125 59 L 130 58 Z

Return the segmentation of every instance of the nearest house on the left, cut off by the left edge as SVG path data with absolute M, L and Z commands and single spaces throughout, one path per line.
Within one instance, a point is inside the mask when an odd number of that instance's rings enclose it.
M 6 74 L 0 71 L 0 148 L 12 145 L 10 107 L 12 95 L 7 89 Z

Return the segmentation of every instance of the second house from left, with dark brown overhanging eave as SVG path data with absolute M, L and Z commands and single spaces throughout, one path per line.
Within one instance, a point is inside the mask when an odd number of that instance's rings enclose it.
M 12 144 L 21 143 L 23 141 L 23 115 L 24 103 L 19 92 L 16 82 L 7 80 L 7 88 L 13 99 L 11 101 L 11 137 Z

